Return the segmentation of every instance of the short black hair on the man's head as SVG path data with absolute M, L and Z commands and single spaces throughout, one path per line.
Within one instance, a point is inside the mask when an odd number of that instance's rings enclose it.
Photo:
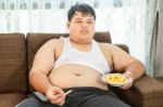
M 84 14 L 90 14 L 93 16 L 93 18 L 96 19 L 96 13 L 95 10 L 87 3 L 76 3 L 75 5 L 73 5 L 67 13 L 67 18 L 71 22 L 71 19 L 73 18 L 75 12 L 82 12 Z

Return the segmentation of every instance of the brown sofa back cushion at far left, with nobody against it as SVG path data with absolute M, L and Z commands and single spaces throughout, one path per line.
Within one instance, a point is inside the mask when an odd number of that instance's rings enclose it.
M 0 34 L 0 92 L 26 92 L 26 42 L 23 34 Z

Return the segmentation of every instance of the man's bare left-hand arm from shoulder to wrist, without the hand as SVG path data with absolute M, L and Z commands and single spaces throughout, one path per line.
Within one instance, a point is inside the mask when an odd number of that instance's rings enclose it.
M 32 85 L 43 94 L 47 93 L 48 88 L 51 85 L 48 73 L 54 64 L 54 42 L 55 40 L 50 40 L 38 50 L 29 72 Z

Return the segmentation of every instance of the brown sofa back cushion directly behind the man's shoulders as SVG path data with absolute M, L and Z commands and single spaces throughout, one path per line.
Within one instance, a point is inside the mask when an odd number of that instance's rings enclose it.
M 61 36 L 68 37 L 67 34 L 27 34 L 27 55 L 28 70 L 30 70 L 33 61 L 38 49 L 50 39 L 58 39 Z M 110 32 L 96 32 L 93 37 L 99 42 L 110 42 Z

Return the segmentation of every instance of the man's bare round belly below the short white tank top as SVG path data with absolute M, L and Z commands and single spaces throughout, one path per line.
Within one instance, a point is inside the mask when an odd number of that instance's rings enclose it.
M 79 65 L 63 65 L 53 69 L 49 75 L 49 80 L 53 85 L 63 89 L 74 86 L 96 86 L 108 90 L 106 83 L 101 80 L 100 72 Z

